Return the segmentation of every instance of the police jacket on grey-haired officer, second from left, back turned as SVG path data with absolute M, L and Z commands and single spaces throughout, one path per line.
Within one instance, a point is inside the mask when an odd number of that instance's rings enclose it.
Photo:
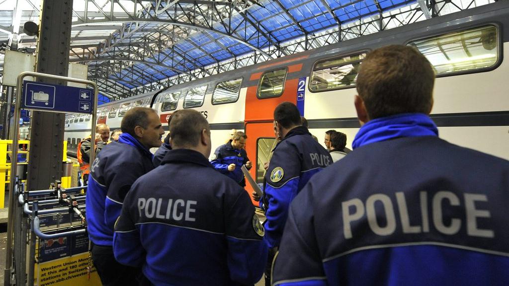
M 174 149 L 127 194 L 114 253 L 154 285 L 252 285 L 267 261 L 263 232 L 246 191 L 201 153 Z

